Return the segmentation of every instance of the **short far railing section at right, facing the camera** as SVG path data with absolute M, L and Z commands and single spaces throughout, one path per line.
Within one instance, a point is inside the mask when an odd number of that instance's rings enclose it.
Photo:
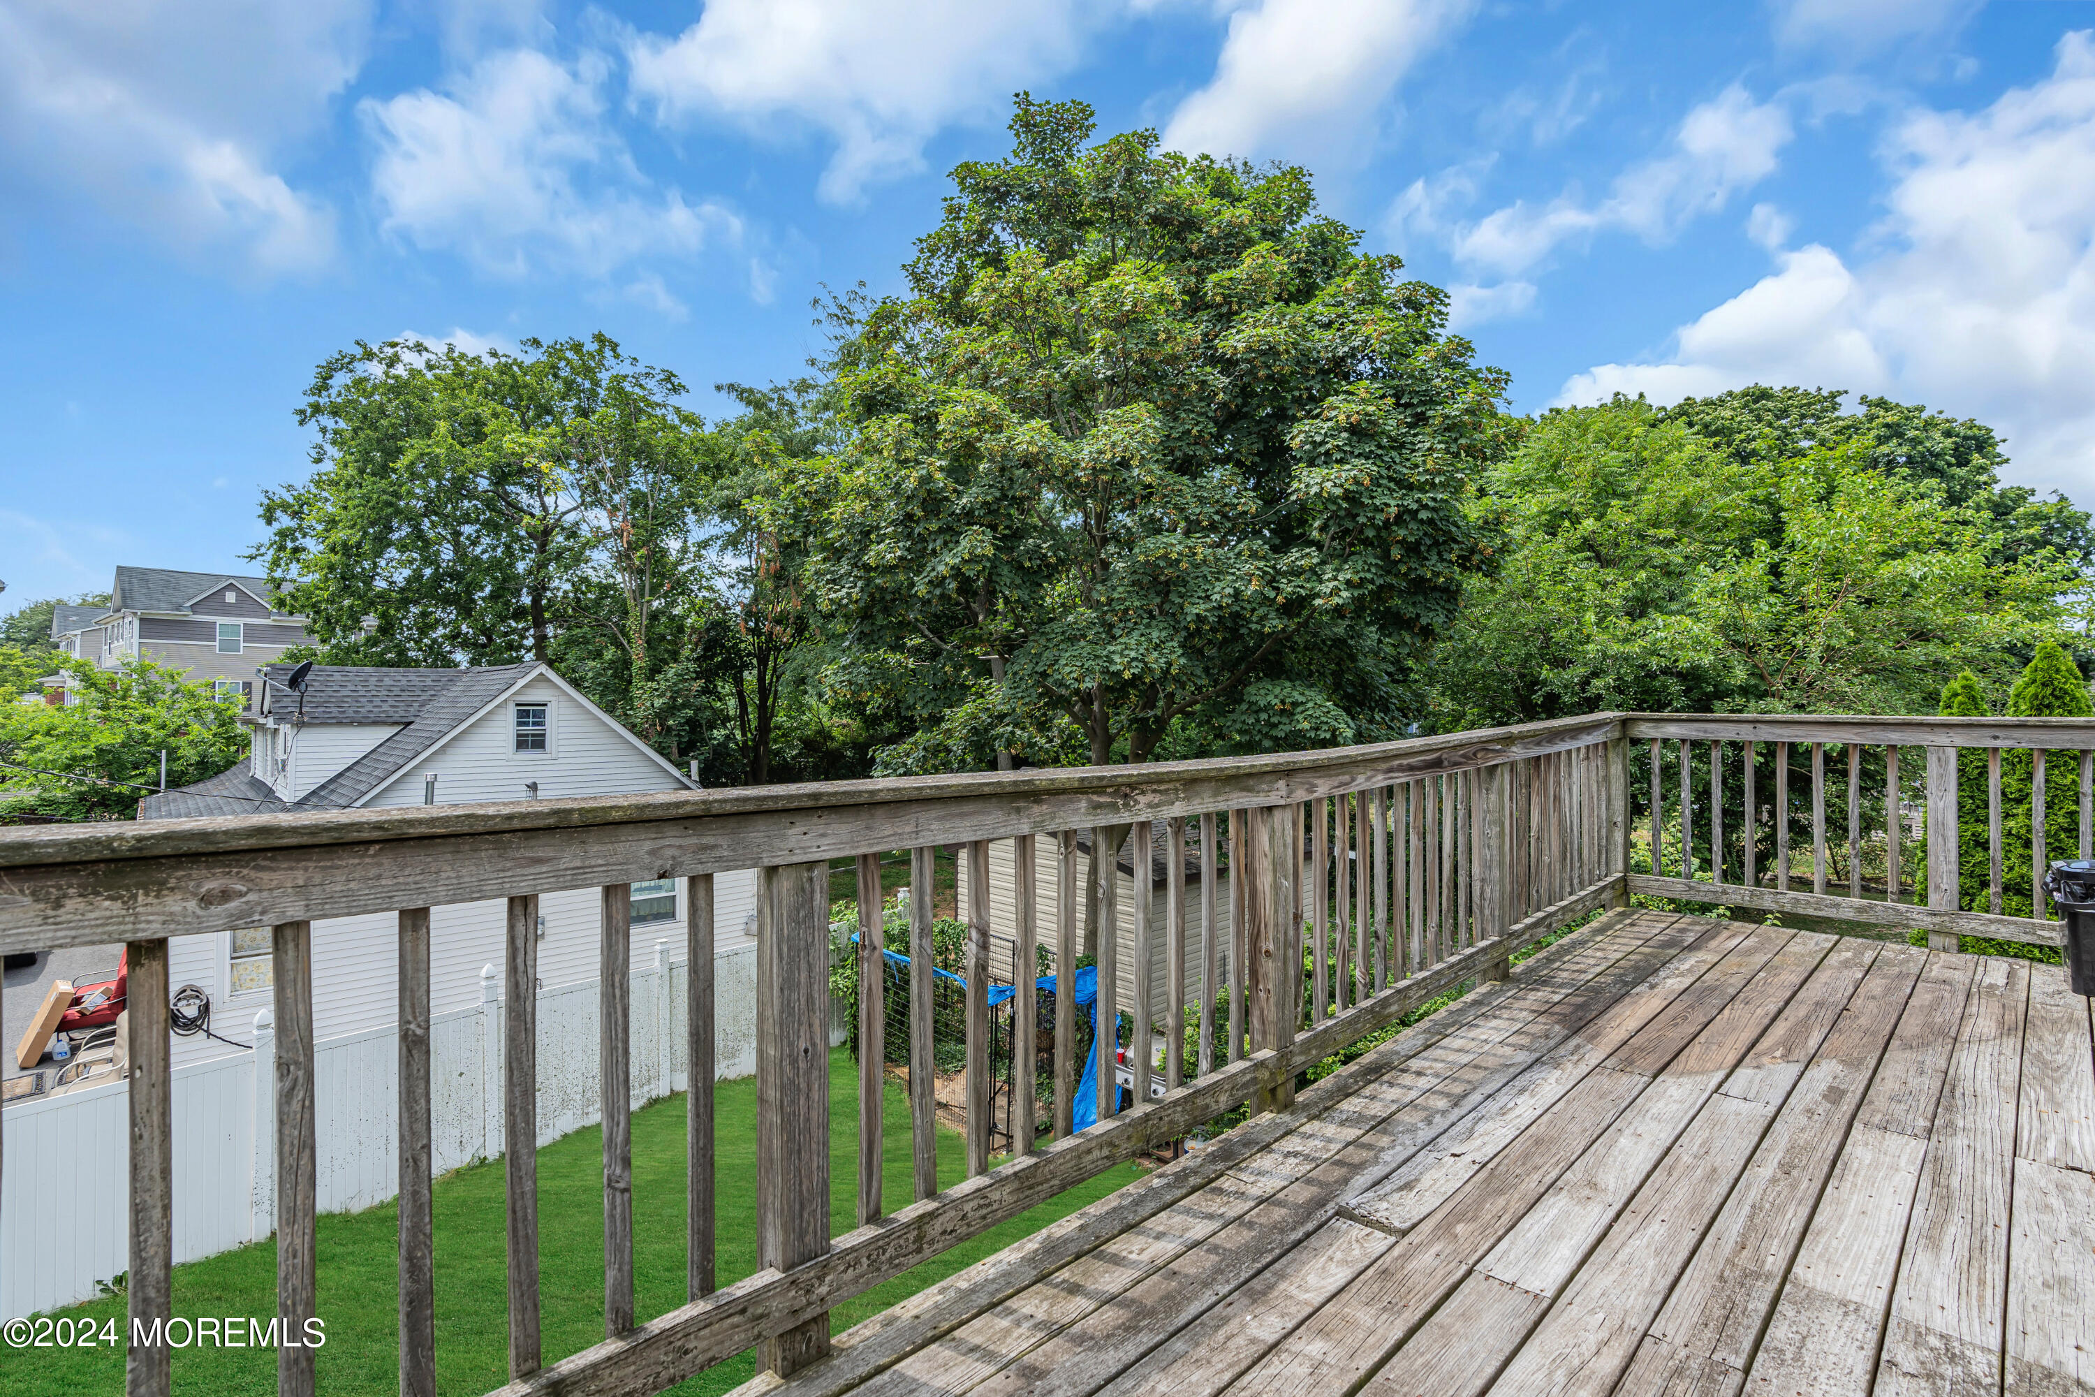
M 1649 821 L 1647 855 L 1630 861 L 1632 892 L 1925 928 L 1946 951 L 1959 934 L 2059 940 L 2041 884 L 2051 859 L 2089 857 L 2095 720 L 1632 714 L 1626 729 L 1640 767 L 1634 819 Z M 2003 756 L 2013 752 L 2030 788 L 2020 829 L 2003 806 Z M 2078 811 L 2074 840 L 2057 848 L 2047 844 L 2047 796 L 2061 760 Z M 1980 777 L 1980 762 L 1986 882 L 1969 888 L 1959 827 L 1978 811 L 1961 811 L 1959 777 L 1961 764 Z M 1921 840 L 1925 863 L 1911 857 Z M 2009 890 L 2032 915 L 2001 913 Z

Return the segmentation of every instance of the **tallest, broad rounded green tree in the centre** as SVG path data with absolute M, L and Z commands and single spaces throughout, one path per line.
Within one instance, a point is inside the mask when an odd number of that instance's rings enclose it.
M 844 314 L 844 446 L 767 526 L 888 771 L 1395 735 L 1487 561 L 1504 375 L 1299 168 L 1018 98 L 909 293 Z M 848 308 L 846 308 L 848 310 Z

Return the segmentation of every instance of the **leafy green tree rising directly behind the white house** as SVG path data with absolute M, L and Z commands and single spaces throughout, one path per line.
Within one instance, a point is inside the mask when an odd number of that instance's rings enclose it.
M 264 492 L 256 557 L 331 662 L 547 660 L 587 630 L 620 656 L 614 708 L 652 735 L 658 612 L 698 582 L 702 423 L 672 373 L 601 333 L 520 348 L 323 362 L 297 413 L 314 471 Z

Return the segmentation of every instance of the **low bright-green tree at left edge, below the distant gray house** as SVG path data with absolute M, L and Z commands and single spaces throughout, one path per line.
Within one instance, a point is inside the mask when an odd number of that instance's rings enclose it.
M 159 785 L 214 777 L 247 750 L 239 700 L 151 660 L 101 668 L 61 656 L 75 702 L 0 704 L 0 815 L 130 819 Z

